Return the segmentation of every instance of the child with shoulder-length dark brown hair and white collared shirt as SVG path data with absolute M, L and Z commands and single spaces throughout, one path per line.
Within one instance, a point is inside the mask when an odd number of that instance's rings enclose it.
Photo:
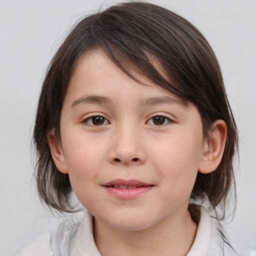
M 40 198 L 71 212 L 74 191 L 87 212 L 18 255 L 249 255 L 198 205 L 224 217 L 237 130 L 211 47 L 177 14 L 127 2 L 77 23 L 34 141 Z

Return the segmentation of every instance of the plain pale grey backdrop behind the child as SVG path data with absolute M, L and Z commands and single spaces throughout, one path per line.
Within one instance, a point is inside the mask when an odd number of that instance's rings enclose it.
M 93 2 L 93 3 L 91 3 Z M 59 217 L 45 212 L 33 181 L 31 134 L 42 77 L 68 28 L 116 1 L 0 0 L 0 256 L 15 255 Z M 229 224 L 256 246 L 256 1 L 155 0 L 186 17 L 220 61 L 240 131 L 237 209 Z

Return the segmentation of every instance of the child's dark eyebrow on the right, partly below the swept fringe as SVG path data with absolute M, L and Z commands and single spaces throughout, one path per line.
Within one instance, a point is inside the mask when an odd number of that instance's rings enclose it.
M 141 105 L 160 105 L 160 104 L 177 104 L 183 108 L 187 108 L 187 102 L 182 100 L 181 98 L 172 98 L 169 96 L 162 96 L 162 97 L 149 97 L 141 99 Z

